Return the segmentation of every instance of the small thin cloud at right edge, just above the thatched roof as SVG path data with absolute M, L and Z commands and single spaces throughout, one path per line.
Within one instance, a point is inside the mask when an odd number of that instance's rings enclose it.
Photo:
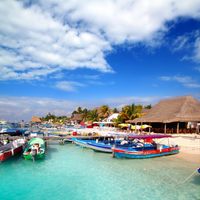
M 162 81 L 175 81 L 187 88 L 200 88 L 200 83 L 190 76 L 161 76 L 159 79 Z

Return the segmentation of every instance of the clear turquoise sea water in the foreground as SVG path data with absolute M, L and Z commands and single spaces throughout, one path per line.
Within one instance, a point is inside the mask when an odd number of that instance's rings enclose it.
M 199 174 L 181 183 L 198 165 L 176 156 L 114 159 L 52 143 L 45 160 L 33 163 L 19 156 L 0 164 L 0 199 L 199 200 Z

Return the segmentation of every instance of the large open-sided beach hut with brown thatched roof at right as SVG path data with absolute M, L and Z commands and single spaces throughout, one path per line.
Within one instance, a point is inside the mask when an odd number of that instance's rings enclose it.
M 149 112 L 132 123 L 149 123 L 154 132 L 199 132 L 200 102 L 192 96 L 176 97 L 160 101 Z M 156 130 L 157 128 L 157 130 Z

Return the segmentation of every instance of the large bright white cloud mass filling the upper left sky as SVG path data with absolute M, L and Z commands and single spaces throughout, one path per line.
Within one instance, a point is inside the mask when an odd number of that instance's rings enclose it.
M 0 21 L 2 80 L 38 79 L 62 69 L 111 70 L 104 59 L 107 41 L 63 24 L 38 6 L 4 1 Z

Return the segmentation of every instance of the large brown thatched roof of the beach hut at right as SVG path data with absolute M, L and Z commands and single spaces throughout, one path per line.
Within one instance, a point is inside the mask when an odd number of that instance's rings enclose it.
M 132 122 L 198 122 L 200 121 L 200 102 L 192 96 L 176 97 L 160 101 L 149 112 Z

